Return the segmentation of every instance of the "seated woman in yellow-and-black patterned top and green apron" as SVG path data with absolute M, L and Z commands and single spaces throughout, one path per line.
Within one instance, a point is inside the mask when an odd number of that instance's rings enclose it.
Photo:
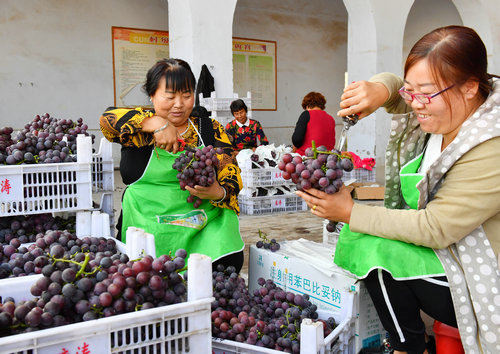
M 237 216 L 240 169 L 224 127 L 191 114 L 195 86 L 188 63 L 163 59 L 148 71 L 143 86 L 154 109 L 110 107 L 101 116 L 104 136 L 121 145 L 120 174 L 127 185 L 117 228 L 125 242 L 131 226 L 153 234 L 157 257 L 182 248 L 188 255 L 210 256 L 214 268 L 232 265 L 239 272 L 244 248 Z M 222 149 L 212 185 L 181 190 L 172 167 L 180 155 L 178 139 L 194 148 Z M 202 204 L 188 203 L 189 194 Z

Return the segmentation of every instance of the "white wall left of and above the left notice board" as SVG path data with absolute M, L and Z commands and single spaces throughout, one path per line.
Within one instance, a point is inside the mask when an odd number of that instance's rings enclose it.
M 0 126 L 82 117 L 101 137 L 113 105 L 111 26 L 168 30 L 163 0 L 2 0 Z

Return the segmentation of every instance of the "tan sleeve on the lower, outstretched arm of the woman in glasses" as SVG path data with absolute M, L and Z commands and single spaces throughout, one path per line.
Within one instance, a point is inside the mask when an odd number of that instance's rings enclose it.
M 421 210 L 354 204 L 352 231 L 431 248 L 445 248 L 483 225 L 496 254 L 500 251 L 500 138 L 462 156 L 448 171 L 434 199 Z

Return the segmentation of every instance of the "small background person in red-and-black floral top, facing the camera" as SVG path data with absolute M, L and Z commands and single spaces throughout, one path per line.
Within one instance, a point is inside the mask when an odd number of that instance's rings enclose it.
M 231 102 L 230 108 L 234 119 L 226 125 L 226 132 L 234 150 L 255 149 L 259 145 L 269 144 L 260 123 L 247 118 L 248 108 L 243 100 Z

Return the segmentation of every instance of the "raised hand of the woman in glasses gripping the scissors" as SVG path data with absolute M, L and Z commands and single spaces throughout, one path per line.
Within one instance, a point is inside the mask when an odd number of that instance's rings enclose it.
M 362 119 L 382 106 L 389 99 L 389 90 L 380 82 L 356 81 L 344 89 L 340 96 L 339 117 L 358 114 Z

